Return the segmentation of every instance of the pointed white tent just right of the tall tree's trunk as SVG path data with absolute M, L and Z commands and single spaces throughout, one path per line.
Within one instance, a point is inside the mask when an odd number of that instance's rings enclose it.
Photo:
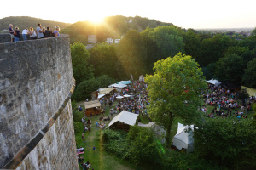
M 189 127 L 192 131 L 188 132 Z M 179 150 L 182 150 L 182 148 L 187 149 L 189 152 L 194 150 L 193 131 L 194 125 L 184 126 L 183 124 L 178 123 L 177 133 L 173 137 L 173 145 L 175 145 Z

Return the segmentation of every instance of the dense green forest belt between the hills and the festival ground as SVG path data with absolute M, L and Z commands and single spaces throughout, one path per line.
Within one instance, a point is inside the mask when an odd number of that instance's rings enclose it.
M 116 17 L 118 20 L 116 23 L 119 23 L 120 19 L 125 19 L 125 17 Z M 76 26 L 76 24 L 84 25 Z M 97 29 L 102 30 L 99 31 L 92 26 L 86 27 L 88 24 L 86 22 L 76 24 L 72 26 L 80 31 L 70 31 L 71 34 L 76 32 L 77 37 L 84 36 L 85 39 L 87 34 L 95 31 L 97 38 L 101 37 L 98 38 L 101 42 L 96 43 L 89 51 L 85 50 L 85 47 L 83 49 L 86 55 L 84 59 L 88 65 L 86 74 L 91 72 L 90 75 L 93 75 L 91 77 L 108 75 L 108 77 L 123 80 L 131 79 L 132 74 L 135 79 L 138 79 L 142 74 L 153 73 L 154 62 L 182 52 L 192 56 L 199 63 L 207 80 L 216 78 L 222 82 L 234 82 L 238 85 L 256 88 L 255 29 L 251 36 L 237 39 L 230 36 L 229 32 L 208 34 L 193 29 L 185 30 L 177 26 L 154 25 L 157 27 L 150 27 L 144 25 L 147 27 L 141 32 L 128 27 L 123 30 L 121 29 L 123 26 L 120 26 L 121 28 L 115 27 L 114 32 L 119 32 L 117 34 L 119 36 L 126 31 L 121 41 L 118 44 L 108 44 L 103 41 L 106 40 L 103 37 L 108 37 L 110 33 L 113 33 L 108 32 L 111 30 L 110 25 L 98 27 Z M 119 25 L 113 24 L 113 26 Z M 82 43 L 74 43 L 73 49 L 78 45 L 83 46 Z M 76 66 L 78 65 L 73 65 L 73 67 Z M 74 77 L 79 79 L 79 82 L 85 80 L 76 74 Z

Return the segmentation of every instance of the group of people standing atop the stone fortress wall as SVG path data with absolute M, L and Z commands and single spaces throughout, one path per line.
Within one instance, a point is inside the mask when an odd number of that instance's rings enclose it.
M 29 29 L 25 28 L 21 32 L 21 35 L 23 37 L 23 40 L 26 41 L 27 35 L 29 35 L 30 39 L 32 40 L 40 39 L 44 37 L 57 37 L 57 36 L 60 36 L 59 31 L 60 31 L 59 26 L 55 26 L 55 31 L 53 31 L 53 29 L 49 28 L 49 26 L 45 28 L 44 26 L 42 27 L 40 23 L 38 23 L 38 27 L 35 31 L 33 30 L 32 27 L 30 27 Z M 11 42 L 20 41 L 20 30 L 18 26 L 16 26 L 14 30 L 13 25 L 9 24 L 9 33 L 11 37 Z

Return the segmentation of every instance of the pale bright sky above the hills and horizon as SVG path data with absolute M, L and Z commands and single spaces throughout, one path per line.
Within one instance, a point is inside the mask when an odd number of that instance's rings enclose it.
M 74 23 L 100 21 L 105 16 L 138 15 L 186 29 L 256 27 L 255 0 L 55 0 L 25 3 L 13 0 L 11 3 L 1 1 L 0 4 L 0 19 L 31 16 Z

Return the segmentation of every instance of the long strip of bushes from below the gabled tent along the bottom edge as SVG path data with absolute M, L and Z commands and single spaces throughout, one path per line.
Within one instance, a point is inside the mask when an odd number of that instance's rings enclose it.
M 150 165 L 147 169 L 197 169 L 222 170 L 223 167 L 213 166 L 203 158 L 193 153 L 180 153 L 176 150 L 166 150 L 154 138 L 154 133 L 148 128 L 131 127 L 129 133 L 106 129 L 102 135 L 105 149 L 115 156 L 134 162 Z

